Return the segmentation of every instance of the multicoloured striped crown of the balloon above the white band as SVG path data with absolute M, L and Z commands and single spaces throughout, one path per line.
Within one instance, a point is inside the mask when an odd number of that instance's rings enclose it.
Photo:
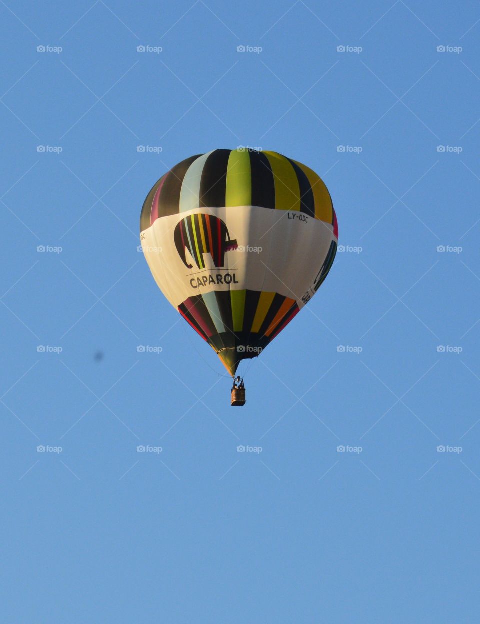
M 157 218 L 195 208 L 236 206 L 300 211 L 338 233 L 330 193 L 310 167 L 277 152 L 246 149 L 213 150 L 172 168 L 147 196 L 140 231 Z

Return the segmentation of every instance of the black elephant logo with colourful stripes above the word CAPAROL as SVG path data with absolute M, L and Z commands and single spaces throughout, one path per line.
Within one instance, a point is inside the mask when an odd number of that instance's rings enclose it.
M 190 215 L 177 223 L 174 232 L 175 246 L 187 268 L 187 249 L 199 269 L 205 268 L 204 253 L 210 253 L 216 268 L 225 265 L 225 253 L 238 249 L 236 240 L 230 239 L 222 219 L 213 215 Z

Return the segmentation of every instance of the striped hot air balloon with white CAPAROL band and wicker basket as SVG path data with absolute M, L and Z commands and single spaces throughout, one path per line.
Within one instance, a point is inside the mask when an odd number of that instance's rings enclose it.
M 140 240 L 160 290 L 218 354 L 235 380 L 232 404 L 243 405 L 238 365 L 260 355 L 318 291 L 338 222 L 325 183 L 306 165 L 277 152 L 220 149 L 160 178 L 142 208 Z

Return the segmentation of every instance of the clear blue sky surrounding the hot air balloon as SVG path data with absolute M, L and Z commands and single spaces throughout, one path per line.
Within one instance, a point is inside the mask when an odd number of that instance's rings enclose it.
M 2 621 L 478 622 L 479 20 L 1 2 Z M 154 182 L 238 145 L 320 173 L 348 248 L 242 410 L 137 251 Z

